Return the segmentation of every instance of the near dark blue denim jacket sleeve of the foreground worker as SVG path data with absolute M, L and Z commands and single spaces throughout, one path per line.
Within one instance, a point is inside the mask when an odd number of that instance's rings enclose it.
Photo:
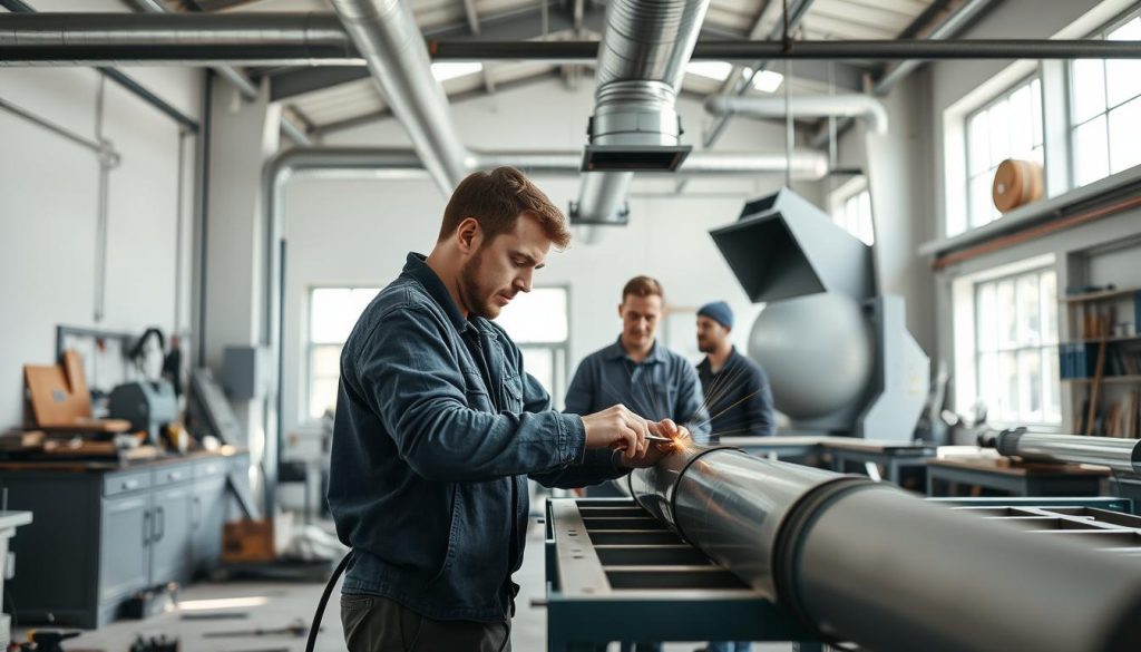
M 456 353 L 427 308 L 391 309 L 358 351 L 359 387 L 398 454 L 432 481 L 484 481 L 581 462 L 582 419 L 552 410 L 484 412 L 468 407 Z

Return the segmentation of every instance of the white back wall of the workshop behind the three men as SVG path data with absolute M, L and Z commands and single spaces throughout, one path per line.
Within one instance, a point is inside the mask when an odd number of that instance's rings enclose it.
M 453 104 L 452 114 L 467 144 L 486 150 L 572 150 L 585 140 L 593 105 L 591 84 L 567 90 L 549 80 Z M 699 140 L 701 106 L 679 102 L 686 142 Z M 381 122 L 332 135 L 330 145 L 406 146 L 403 129 Z M 784 147 L 784 129 L 738 120 L 718 150 L 772 152 Z M 578 183 L 536 178 L 559 206 L 576 198 Z M 616 306 L 622 285 L 649 274 L 664 285 L 667 303 L 696 308 L 728 300 L 738 313 L 737 337 L 744 340 L 756 307 L 725 265 L 707 232 L 736 219 L 747 198 L 775 191 L 784 175 L 752 179 L 695 180 L 681 196 L 656 195 L 673 182 L 637 182 L 630 225 L 607 228 L 598 245 L 575 242 L 552 252 L 536 284 L 570 287 L 570 371 L 578 360 L 617 337 Z M 800 187 L 816 192 L 808 185 Z M 647 193 L 654 194 L 648 196 Z M 327 284 L 383 285 L 399 273 L 410 250 L 427 252 L 436 240 L 446 198 L 427 180 L 298 180 L 285 198 L 288 280 L 285 298 L 285 409 L 289 433 L 304 417 L 305 322 L 308 288 Z

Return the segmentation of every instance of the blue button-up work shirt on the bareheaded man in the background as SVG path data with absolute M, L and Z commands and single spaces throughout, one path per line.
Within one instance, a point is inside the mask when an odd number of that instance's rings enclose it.
M 591 414 L 615 403 L 652 421 L 673 419 L 688 427 L 697 442 L 706 441 L 710 432 L 697 372 L 689 361 L 657 341 L 641 362 L 634 362 L 622 348 L 620 337 L 578 363 L 564 412 Z

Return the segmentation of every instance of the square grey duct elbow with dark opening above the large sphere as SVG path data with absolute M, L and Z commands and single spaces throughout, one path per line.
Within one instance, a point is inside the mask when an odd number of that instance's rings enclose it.
M 754 303 L 875 295 L 872 249 L 788 188 L 746 203 L 738 222 L 710 235 Z

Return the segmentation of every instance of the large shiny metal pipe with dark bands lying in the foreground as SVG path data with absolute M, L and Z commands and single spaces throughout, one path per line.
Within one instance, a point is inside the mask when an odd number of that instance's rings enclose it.
M 826 639 L 876 652 L 1125 652 L 1141 570 L 860 476 L 690 446 L 630 475 L 649 513 Z

